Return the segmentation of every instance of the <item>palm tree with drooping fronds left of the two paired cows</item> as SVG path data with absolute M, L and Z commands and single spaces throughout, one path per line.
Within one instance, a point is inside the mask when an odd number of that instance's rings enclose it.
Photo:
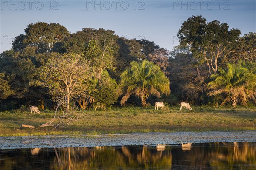
M 142 63 L 131 62 L 131 68 L 121 74 L 119 84 L 119 96 L 125 94 L 121 99 L 123 105 L 131 95 L 140 97 L 143 107 L 146 99 L 151 94 L 160 99 L 161 94 L 170 94 L 169 79 L 161 71 L 160 67 L 152 62 L 144 60 Z

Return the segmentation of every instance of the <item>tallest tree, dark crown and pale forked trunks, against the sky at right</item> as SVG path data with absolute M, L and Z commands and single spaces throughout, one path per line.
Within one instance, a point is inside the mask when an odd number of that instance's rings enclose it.
M 216 74 L 218 62 L 227 55 L 230 46 L 234 43 L 241 31 L 228 30 L 227 23 L 217 20 L 206 23 L 201 15 L 193 16 L 185 21 L 179 32 L 180 43 L 189 45 L 193 55 L 201 63 L 206 63 L 209 74 Z

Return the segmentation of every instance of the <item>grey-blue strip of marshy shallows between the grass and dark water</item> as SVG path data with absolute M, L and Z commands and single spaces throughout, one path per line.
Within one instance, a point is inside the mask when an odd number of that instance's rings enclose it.
M 256 142 L 256 130 L 229 132 L 150 132 L 114 135 L 0 137 L 0 149 L 127 146 L 143 144 L 155 146 L 160 143 L 164 143 L 166 145 L 180 145 L 181 142 Z

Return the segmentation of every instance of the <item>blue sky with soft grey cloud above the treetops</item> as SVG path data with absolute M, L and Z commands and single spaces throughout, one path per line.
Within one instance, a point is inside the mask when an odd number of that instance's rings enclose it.
M 60 23 L 70 33 L 104 28 L 120 37 L 154 41 L 172 50 L 177 32 L 193 15 L 256 32 L 256 0 L 0 0 L 0 53 L 30 23 Z

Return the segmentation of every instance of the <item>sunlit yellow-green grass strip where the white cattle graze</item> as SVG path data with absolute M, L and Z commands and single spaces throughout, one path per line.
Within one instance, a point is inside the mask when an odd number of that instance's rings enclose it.
M 65 129 L 44 127 L 31 130 L 21 124 L 35 127 L 49 121 L 54 111 L 41 114 L 30 111 L 0 112 L 0 136 L 75 135 L 146 133 L 172 131 L 228 131 L 256 130 L 256 108 L 194 107 L 154 110 L 153 107 L 112 108 L 111 111 L 85 110 L 84 116 Z

